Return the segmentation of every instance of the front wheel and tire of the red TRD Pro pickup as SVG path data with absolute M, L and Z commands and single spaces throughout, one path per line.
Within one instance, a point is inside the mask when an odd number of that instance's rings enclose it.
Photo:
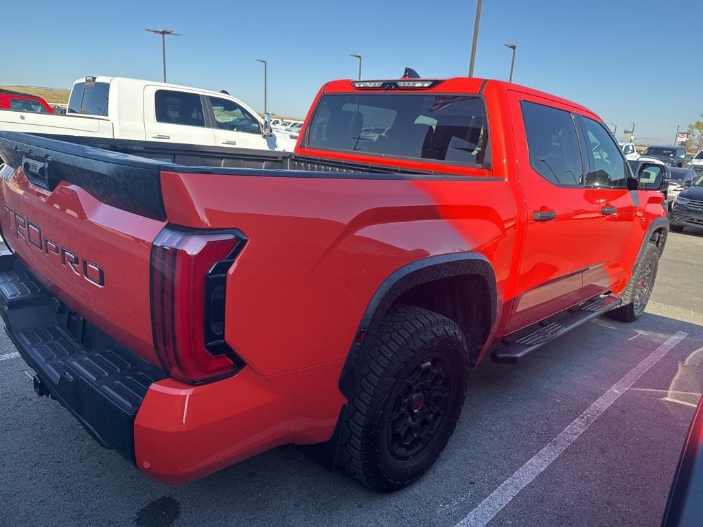
M 610 318 L 620 322 L 634 322 L 642 316 L 652 294 L 654 280 L 657 278 L 657 268 L 659 268 L 659 250 L 654 244 L 647 243 L 642 256 L 635 264 L 632 278 L 623 292 L 624 304 L 610 311 L 608 313 Z

